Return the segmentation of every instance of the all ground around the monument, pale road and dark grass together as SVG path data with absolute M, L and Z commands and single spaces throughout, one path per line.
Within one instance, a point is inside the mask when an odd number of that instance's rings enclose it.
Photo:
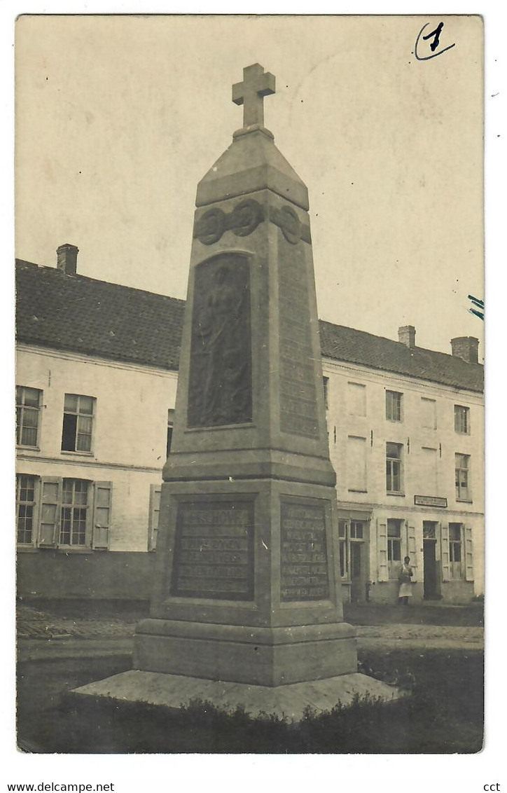
M 347 604 L 345 619 L 356 626 L 358 671 L 409 686 L 412 696 L 395 710 L 367 708 L 362 714 L 359 708 L 347 715 L 345 732 L 340 717 L 336 724 L 309 725 L 311 734 L 270 722 L 237 724 L 232 717 L 231 723 L 223 716 L 215 722 L 205 709 L 157 714 L 135 710 L 132 703 L 126 710 L 95 702 L 77 707 L 68 699 L 74 688 L 132 668 L 135 625 L 145 616 L 147 604 L 20 604 L 17 735 L 22 751 L 468 753 L 482 745 L 479 604 Z

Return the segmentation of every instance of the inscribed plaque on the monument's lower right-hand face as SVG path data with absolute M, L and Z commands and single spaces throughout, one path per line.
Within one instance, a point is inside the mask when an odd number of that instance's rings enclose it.
M 330 593 L 324 507 L 280 506 L 280 600 L 324 600 Z

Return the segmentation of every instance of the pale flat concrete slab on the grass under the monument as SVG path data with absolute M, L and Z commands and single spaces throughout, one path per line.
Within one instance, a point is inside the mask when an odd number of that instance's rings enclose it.
M 299 722 L 307 706 L 311 706 L 316 711 L 326 711 L 334 707 L 337 702 L 349 705 L 356 694 L 360 696 L 369 694 L 372 697 L 379 697 L 383 702 L 391 702 L 405 696 L 406 692 L 360 672 L 330 677 L 326 680 L 269 687 L 133 669 L 75 688 L 73 694 L 79 697 L 105 697 L 167 708 L 182 707 L 193 699 L 202 699 L 224 711 L 234 711 L 238 705 L 241 705 L 251 716 L 264 712 Z

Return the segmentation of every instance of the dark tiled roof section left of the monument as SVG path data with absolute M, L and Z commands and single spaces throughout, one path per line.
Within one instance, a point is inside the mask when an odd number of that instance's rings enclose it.
M 17 340 L 177 370 L 185 301 L 17 261 Z

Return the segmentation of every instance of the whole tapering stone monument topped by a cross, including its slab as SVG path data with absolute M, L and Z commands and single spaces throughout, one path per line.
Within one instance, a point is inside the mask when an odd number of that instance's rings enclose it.
M 383 693 L 343 621 L 308 194 L 264 126 L 274 93 L 259 64 L 243 70 L 243 126 L 197 188 L 151 615 L 137 682 L 102 681 L 108 695 L 179 704 L 213 699 L 214 680 L 264 709 L 261 691 L 283 689 L 268 698 L 280 711 L 294 684 L 326 707 L 344 685 Z

